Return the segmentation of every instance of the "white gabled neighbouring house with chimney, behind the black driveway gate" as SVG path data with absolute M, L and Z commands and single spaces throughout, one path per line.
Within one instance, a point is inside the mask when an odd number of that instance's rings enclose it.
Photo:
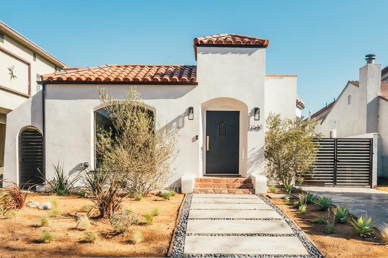
M 348 81 L 338 99 L 311 116 L 325 137 L 374 137 L 377 175 L 388 177 L 388 67 L 367 55 L 359 81 Z

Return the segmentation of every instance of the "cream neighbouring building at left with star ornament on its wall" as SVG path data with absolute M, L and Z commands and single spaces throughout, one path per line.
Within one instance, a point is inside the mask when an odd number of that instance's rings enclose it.
M 42 86 L 36 81 L 41 74 L 59 71 L 64 66 L 0 21 L 0 175 L 4 164 L 6 115 L 40 91 Z

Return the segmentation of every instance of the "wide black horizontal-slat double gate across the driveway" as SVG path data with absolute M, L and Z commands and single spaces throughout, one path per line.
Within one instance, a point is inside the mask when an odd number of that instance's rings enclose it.
M 321 147 L 314 175 L 305 176 L 303 185 L 371 186 L 373 139 L 314 139 Z

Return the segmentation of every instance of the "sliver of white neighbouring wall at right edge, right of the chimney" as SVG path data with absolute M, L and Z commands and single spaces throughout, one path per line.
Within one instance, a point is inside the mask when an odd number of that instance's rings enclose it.
M 378 176 L 388 177 L 388 101 L 379 98 L 379 136 L 381 138 L 381 171 Z

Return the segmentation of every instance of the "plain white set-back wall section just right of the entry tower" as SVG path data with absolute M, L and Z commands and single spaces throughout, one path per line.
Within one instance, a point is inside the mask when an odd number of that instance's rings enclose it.
M 295 119 L 296 76 L 267 76 L 265 94 L 266 117 L 272 112 L 280 113 L 283 119 Z

